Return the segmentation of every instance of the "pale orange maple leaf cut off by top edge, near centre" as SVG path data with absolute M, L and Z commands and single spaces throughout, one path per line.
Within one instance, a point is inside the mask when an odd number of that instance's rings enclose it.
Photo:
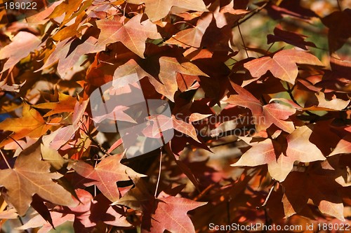
M 145 3 L 145 13 L 152 22 L 165 17 L 172 6 L 187 10 L 207 11 L 202 0 L 126 0 L 126 2 L 132 4 Z

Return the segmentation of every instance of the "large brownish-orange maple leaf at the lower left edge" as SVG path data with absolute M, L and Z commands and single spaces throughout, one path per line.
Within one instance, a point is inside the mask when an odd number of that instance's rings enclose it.
M 50 172 L 50 163 L 41 160 L 40 143 L 26 148 L 18 155 L 13 169 L 0 170 L 0 186 L 6 188 L 4 197 L 20 216 L 25 215 L 34 194 L 54 204 L 73 206 L 72 195 L 53 182 L 60 174 Z

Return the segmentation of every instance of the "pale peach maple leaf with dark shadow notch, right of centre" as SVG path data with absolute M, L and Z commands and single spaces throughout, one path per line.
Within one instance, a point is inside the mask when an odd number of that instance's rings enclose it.
M 256 167 L 267 164 L 272 178 L 284 181 L 293 169 L 294 162 L 326 160 L 317 146 L 308 141 L 311 134 L 312 130 L 305 125 L 295 129 L 286 137 L 288 143 L 286 151 L 282 151 L 282 145 L 272 139 L 252 143 L 252 148 L 241 155 L 239 161 L 231 166 Z

